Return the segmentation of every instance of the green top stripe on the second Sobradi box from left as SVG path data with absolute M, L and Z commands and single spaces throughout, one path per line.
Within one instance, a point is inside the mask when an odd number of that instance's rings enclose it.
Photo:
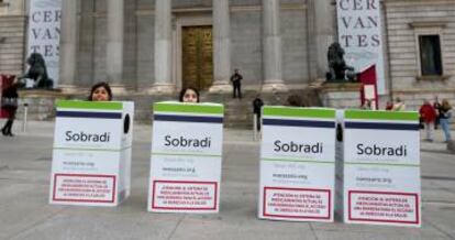
M 222 105 L 203 105 L 203 103 L 164 103 L 157 102 L 153 105 L 154 111 L 164 112 L 185 112 L 185 113 L 208 113 L 223 114 Z

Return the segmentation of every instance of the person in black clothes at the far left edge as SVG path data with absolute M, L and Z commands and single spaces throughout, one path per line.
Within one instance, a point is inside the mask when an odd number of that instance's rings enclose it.
M 13 81 L 9 87 L 4 88 L 1 94 L 1 108 L 8 114 L 8 120 L 1 129 L 3 135 L 13 137 L 11 132 L 12 124 L 18 110 L 18 83 Z

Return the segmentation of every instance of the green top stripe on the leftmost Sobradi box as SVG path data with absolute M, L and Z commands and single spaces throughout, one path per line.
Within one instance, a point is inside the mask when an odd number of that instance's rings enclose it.
M 93 110 L 122 110 L 121 101 L 69 101 L 57 100 L 57 108 L 60 109 L 93 109 Z

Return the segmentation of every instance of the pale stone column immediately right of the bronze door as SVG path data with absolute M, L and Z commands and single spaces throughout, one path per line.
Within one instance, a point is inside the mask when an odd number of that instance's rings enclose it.
M 210 92 L 230 92 L 231 33 L 229 0 L 213 0 L 213 85 Z

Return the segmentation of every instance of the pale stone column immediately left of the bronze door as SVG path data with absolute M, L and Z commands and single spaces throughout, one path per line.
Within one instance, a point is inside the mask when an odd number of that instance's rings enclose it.
M 174 94 L 171 0 L 155 1 L 155 83 L 152 94 Z

